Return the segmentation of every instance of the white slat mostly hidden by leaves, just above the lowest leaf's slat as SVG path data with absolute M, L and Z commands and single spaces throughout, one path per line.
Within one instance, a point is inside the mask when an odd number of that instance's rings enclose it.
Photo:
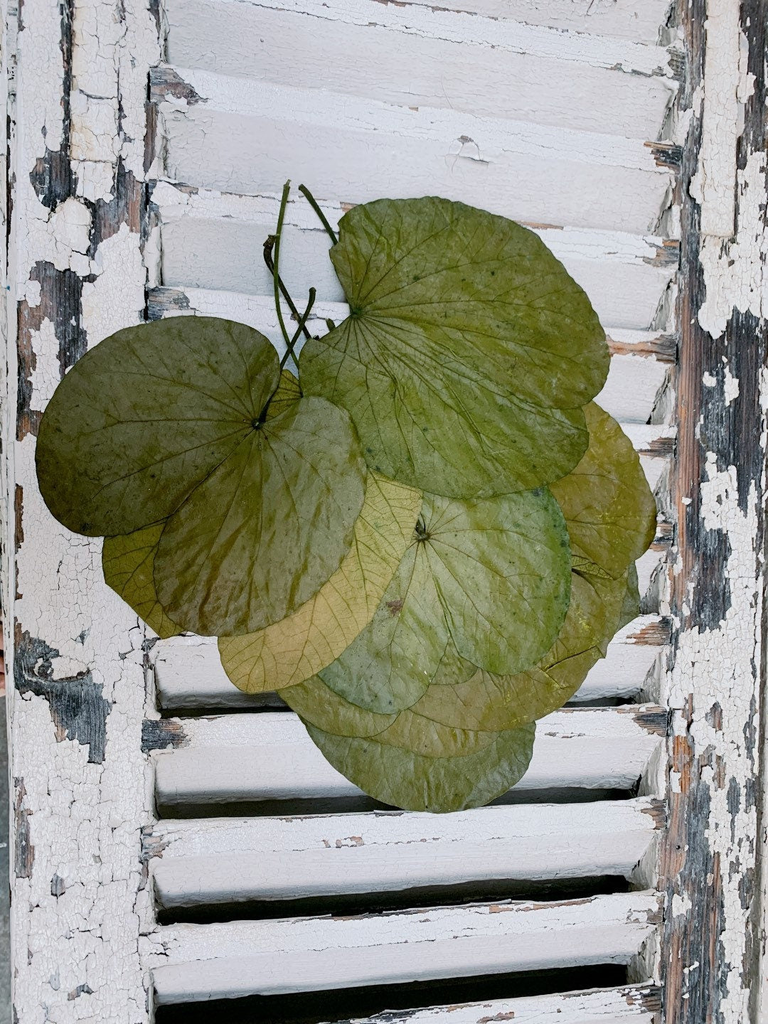
M 668 639 L 658 615 L 640 615 L 616 634 L 608 655 L 592 669 L 578 700 L 628 697 L 637 693 Z M 155 677 L 161 708 L 247 708 L 254 696 L 237 689 L 221 667 L 216 641 L 209 637 L 173 637 L 157 644 Z

